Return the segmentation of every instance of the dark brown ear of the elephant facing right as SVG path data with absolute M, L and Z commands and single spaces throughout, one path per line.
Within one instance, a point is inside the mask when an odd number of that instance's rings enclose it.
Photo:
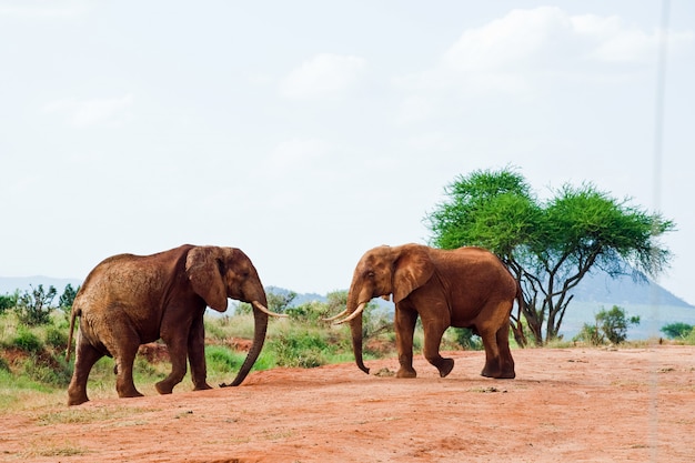
M 193 291 L 203 298 L 208 306 L 218 312 L 226 310 L 221 256 L 220 248 L 198 246 L 191 249 L 185 258 L 185 274 Z

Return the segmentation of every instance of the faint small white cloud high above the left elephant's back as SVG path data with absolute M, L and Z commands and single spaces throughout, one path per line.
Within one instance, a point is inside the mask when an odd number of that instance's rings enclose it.
M 128 109 L 132 104 L 132 94 L 84 101 L 68 98 L 46 104 L 42 111 L 64 117 L 72 127 L 84 128 L 100 123 L 119 124 L 128 115 Z

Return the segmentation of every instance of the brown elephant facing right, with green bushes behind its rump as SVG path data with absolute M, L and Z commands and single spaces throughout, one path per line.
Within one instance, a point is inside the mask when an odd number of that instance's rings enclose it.
M 254 335 L 246 359 L 231 385 L 239 385 L 258 359 L 265 341 L 265 291 L 251 260 L 235 248 L 184 244 L 151 255 L 119 254 L 99 263 L 73 301 L 67 361 L 75 318 L 74 372 L 68 404 L 89 401 L 87 380 L 104 355 L 115 361 L 115 390 L 120 397 L 141 396 L 133 382 L 133 362 L 140 344 L 162 339 L 169 350 L 171 373 L 155 384 L 170 394 L 187 372 L 187 358 L 195 391 L 207 382 L 203 314 L 205 306 L 224 312 L 228 298 L 253 306 Z

